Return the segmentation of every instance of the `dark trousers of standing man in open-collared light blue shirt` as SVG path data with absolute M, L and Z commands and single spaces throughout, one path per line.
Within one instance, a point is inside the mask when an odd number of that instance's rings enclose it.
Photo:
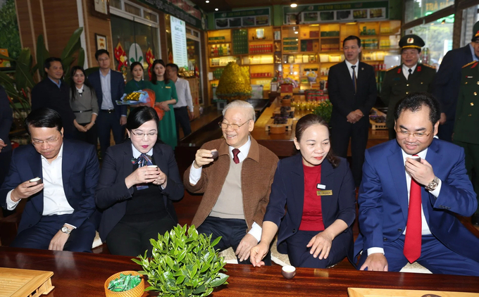
M 100 110 L 97 118 L 97 131 L 100 141 L 101 158 L 104 158 L 106 148 L 110 146 L 110 131 L 113 132 L 115 144 L 121 144 L 125 140 L 125 127 L 120 125 L 120 119 L 115 111 L 108 113 Z

